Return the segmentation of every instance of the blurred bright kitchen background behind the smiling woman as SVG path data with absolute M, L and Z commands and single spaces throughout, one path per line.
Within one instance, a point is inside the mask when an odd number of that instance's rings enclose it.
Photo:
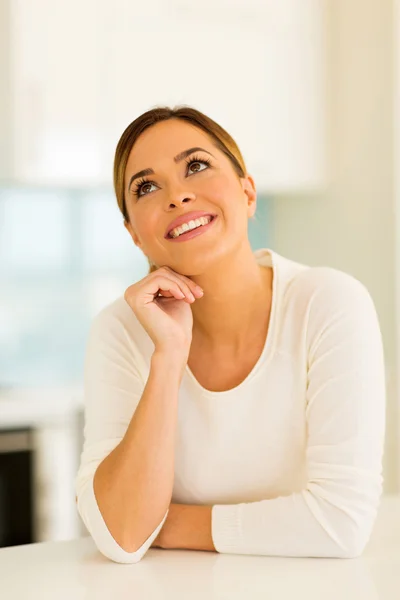
M 126 126 L 191 105 L 258 190 L 254 250 L 360 279 L 400 492 L 399 0 L 0 0 L 0 546 L 85 535 L 92 318 L 148 272 L 112 188 Z

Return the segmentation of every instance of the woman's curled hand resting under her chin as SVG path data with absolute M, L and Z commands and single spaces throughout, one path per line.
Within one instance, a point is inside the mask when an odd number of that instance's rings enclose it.
M 124 298 L 151 337 L 156 350 L 190 349 L 193 315 L 190 304 L 202 291 L 189 277 L 160 267 L 129 286 Z

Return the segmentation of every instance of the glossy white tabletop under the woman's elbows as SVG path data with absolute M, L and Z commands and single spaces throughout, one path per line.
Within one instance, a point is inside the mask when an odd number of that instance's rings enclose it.
M 398 600 L 400 496 L 382 499 L 363 555 L 279 558 L 160 550 L 122 565 L 91 538 L 0 549 L 7 600 Z

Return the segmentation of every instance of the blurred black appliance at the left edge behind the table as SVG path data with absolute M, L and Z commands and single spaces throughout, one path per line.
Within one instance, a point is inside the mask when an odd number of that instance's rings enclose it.
M 0 430 L 0 547 L 34 541 L 31 435 Z

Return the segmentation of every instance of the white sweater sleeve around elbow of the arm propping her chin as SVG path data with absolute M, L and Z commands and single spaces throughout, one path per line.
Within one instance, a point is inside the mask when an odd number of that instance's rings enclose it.
M 84 369 L 84 444 L 75 480 L 78 512 L 99 551 L 118 563 L 137 563 L 157 537 L 157 528 L 135 552 L 126 552 L 112 537 L 93 489 L 97 467 L 121 442 L 139 404 L 145 382 L 135 348 L 123 323 L 104 309 L 89 332 Z

